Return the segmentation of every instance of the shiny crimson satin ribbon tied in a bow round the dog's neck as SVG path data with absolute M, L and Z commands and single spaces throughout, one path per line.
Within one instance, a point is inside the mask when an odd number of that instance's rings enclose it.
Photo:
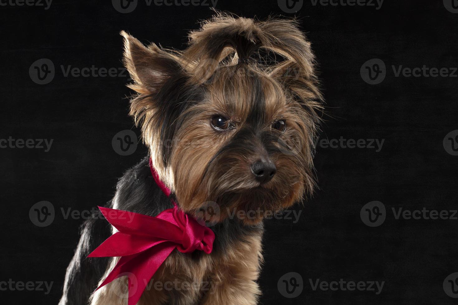
M 170 190 L 159 180 L 150 160 L 154 180 L 169 196 Z M 111 235 L 88 257 L 120 257 L 118 263 L 97 289 L 116 278 L 129 278 L 128 305 L 135 305 L 154 273 L 177 248 L 182 253 L 195 250 L 209 254 L 215 234 L 193 217 L 185 214 L 176 203 L 158 216 L 98 207 L 108 222 L 119 232 Z

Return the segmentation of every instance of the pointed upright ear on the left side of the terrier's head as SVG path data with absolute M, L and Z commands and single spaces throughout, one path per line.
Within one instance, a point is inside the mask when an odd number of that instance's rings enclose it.
M 154 94 L 171 77 L 183 73 L 180 60 L 154 43 L 148 47 L 122 31 L 124 37 L 124 65 L 134 84 L 129 87 L 140 94 Z

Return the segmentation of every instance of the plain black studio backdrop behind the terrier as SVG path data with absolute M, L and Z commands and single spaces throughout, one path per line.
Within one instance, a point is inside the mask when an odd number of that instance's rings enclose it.
M 146 155 L 119 32 L 181 49 L 215 6 L 160 3 L 0 0 L 2 304 L 57 304 L 87 211 Z M 265 221 L 261 303 L 456 304 L 458 1 L 216 8 L 298 16 L 327 103 L 319 189 Z

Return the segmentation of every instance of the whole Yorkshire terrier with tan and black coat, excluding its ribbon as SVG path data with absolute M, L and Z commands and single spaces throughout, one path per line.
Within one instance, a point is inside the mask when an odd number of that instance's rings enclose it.
M 220 12 L 180 52 L 121 34 L 136 92 L 130 113 L 149 156 L 125 173 L 106 207 L 156 216 L 173 208 L 173 198 L 216 236 L 210 254 L 174 250 L 150 282 L 191 285 L 153 285 L 138 304 L 257 304 L 263 218 L 309 197 L 316 184 L 323 102 L 311 44 L 295 20 Z M 218 209 L 212 225 L 209 204 Z M 126 277 L 94 291 L 119 259 L 87 258 L 116 232 L 99 216 L 82 226 L 60 305 L 127 304 Z

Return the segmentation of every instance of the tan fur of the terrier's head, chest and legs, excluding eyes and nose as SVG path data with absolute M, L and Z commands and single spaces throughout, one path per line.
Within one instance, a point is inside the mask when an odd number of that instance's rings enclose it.
M 122 35 L 125 65 L 134 80 L 130 87 L 137 92 L 131 100 L 131 115 L 142 126 L 159 177 L 173 191 L 182 210 L 196 215 L 203 203 L 215 201 L 221 207 L 222 221 L 228 217 L 228 209 L 246 212 L 262 208 L 256 219 L 240 219 L 244 225 L 254 225 L 262 221 L 265 212 L 289 207 L 312 192 L 313 139 L 322 96 L 310 43 L 296 21 L 256 21 L 218 13 L 199 31 L 191 32 L 190 45 L 182 52 L 155 44 L 145 47 L 127 33 Z M 262 51 L 283 60 L 268 63 Z M 171 80 L 180 86 L 174 88 Z M 192 91 L 181 102 L 188 107 L 167 121 L 164 112 L 176 109 L 161 103 L 179 108 L 181 104 L 174 104 L 174 99 L 181 97 L 173 93 L 185 94 L 180 91 L 183 86 Z M 263 106 L 253 123 L 250 116 L 260 96 Z M 215 131 L 210 125 L 215 115 L 229 118 L 236 128 Z M 287 124 L 284 133 L 272 129 L 278 120 Z M 171 141 L 167 146 L 161 132 L 173 134 L 173 139 L 165 139 Z M 269 143 L 275 152 L 272 148 L 267 151 L 258 137 L 261 133 L 275 139 Z M 218 155 L 238 136 L 244 143 L 239 150 L 228 148 Z M 275 177 L 262 186 L 250 172 L 251 164 L 259 158 L 269 158 L 277 166 Z M 217 249 L 210 255 L 175 250 L 153 281 L 177 279 L 198 284 L 171 292 L 147 289 L 138 304 L 257 304 L 261 294 L 256 284 L 262 262 L 261 239 L 262 233 L 253 233 L 225 252 Z M 115 262 L 113 259 L 105 276 Z M 204 282 L 213 284 L 211 291 L 203 290 L 199 283 Z M 127 299 L 119 296 L 119 291 L 126 291 L 125 286 L 125 278 L 106 285 L 93 294 L 91 304 L 126 304 Z

